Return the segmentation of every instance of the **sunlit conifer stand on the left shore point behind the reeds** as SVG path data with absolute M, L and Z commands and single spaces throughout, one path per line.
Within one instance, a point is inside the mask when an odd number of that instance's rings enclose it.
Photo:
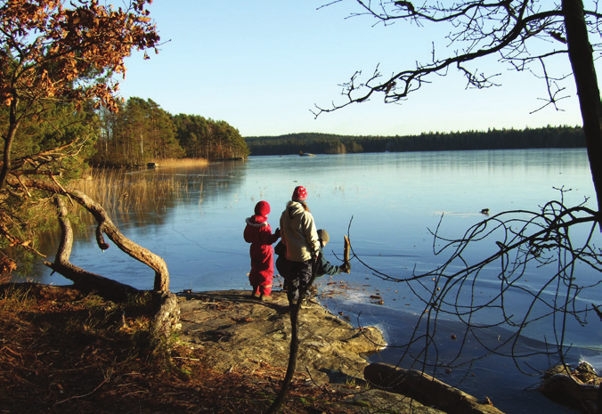
M 198 115 L 170 115 L 148 99 L 130 98 L 117 113 L 101 110 L 96 166 L 142 166 L 165 158 L 231 159 L 248 156 L 238 129 Z

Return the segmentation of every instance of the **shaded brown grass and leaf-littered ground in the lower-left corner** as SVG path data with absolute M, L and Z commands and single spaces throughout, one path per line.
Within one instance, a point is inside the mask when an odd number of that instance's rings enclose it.
M 2 413 L 258 414 L 273 401 L 283 369 L 216 372 L 202 348 L 177 342 L 151 353 L 144 304 L 53 292 L 0 286 Z M 348 412 L 305 379 L 295 380 L 281 412 Z

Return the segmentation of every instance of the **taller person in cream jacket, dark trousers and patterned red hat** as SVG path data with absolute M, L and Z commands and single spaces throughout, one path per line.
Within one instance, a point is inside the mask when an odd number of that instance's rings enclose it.
M 318 231 L 305 204 L 306 199 L 305 188 L 296 187 L 281 215 L 281 240 L 287 249 L 288 266 L 287 274 L 283 276 L 291 305 L 297 304 L 299 291 L 312 279 L 312 266 L 320 252 Z

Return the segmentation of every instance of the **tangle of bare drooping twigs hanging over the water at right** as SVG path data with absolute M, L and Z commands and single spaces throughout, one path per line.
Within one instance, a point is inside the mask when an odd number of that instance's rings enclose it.
M 403 350 L 400 359 L 411 358 L 423 371 L 432 369 L 435 375 L 441 367 L 458 368 L 496 354 L 511 357 L 517 368 L 527 373 L 529 367 L 521 361 L 534 355 L 556 356 L 564 361 L 570 342 L 565 337 L 569 318 L 586 326 L 587 314 L 597 312 L 595 304 L 582 304 L 578 297 L 602 280 L 581 280 L 576 270 L 585 266 L 602 272 L 600 251 L 592 242 L 600 219 L 590 208 L 565 207 L 562 201 L 550 201 L 541 212 L 503 212 L 474 224 L 460 239 L 447 239 L 441 234 L 442 216 L 432 232 L 433 251 L 449 256 L 432 271 L 414 269 L 405 277 L 378 272 L 355 252 L 354 256 L 379 279 L 403 283 L 423 305 L 411 336 L 395 345 Z M 572 237 L 571 230 L 578 228 L 580 236 Z M 442 247 L 437 247 L 441 243 Z M 474 256 L 471 248 L 484 244 L 491 246 L 492 254 L 473 263 L 474 259 L 468 259 Z M 544 266 L 549 269 L 547 280 L 537 288 L 525 283 L 528 269 Z M 485 280 L 499 281 L 497 294 L 477 294 L 477 286 Z M 517 295 L 523 297 L 520 308 L 508 307 L 508 300 L 516 304 L 512 297 Z M 450 320 L 460 321 L 464 329 L 457 339 L 460 345 L 456 353 L 441 359 L 435 333 L 439 323 Z M 551 342 L 547 349 L 524 349 L 520 338 L 541 321 L 551 322 L 548 326 L 553 336 L 548 337 Z M 492 341 L 491 329 L 497 328 L 505 329 L 507 336 Z M 474 345 L 470 351 L 465 350 L 465 345 L 475 342 L 481 346 L 481 354 L 474 354 Z

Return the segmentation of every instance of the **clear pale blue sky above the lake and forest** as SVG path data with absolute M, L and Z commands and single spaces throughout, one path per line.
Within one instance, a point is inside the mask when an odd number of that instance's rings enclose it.
M 329 7 L 328 1 L 155 0 L 150 5 L 161 39 L 159 54 L 126 60 L 124 98 L 156 101 L 172 114 L 224 120 L 243 136 L 301 132 L 354 135 L 405 135 L 423 132 L 581 125 L 574 83 L 567 82 L 563 111 L 541 107 L 546 89 L 529 73 L 509 71 L 494 59 L 479 70 L 500 73 L 502 86 L 466 89 L 456 72 L 433 77 L 401 104 L 377 95 L 315 119 L 315 105 L 342 102 L 340 84 L 356 70 L 383 74 L 426 62 L 437 41 L 436 27 L 406 24 L 374 26 L 354 1 Z M 570 73 L 567 59 L 557 69 Z M 599 70 L 598 70 L 599 71 Z

